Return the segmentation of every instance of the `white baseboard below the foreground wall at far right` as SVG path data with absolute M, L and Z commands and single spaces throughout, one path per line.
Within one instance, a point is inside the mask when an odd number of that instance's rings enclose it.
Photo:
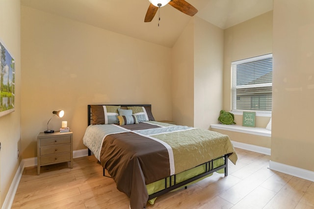
M 282 163 L 271 161 L 271 160 L 269 161 L 269 169 L 314 182 L 313 171 L 308 171 L 302 168 L 282 164 Z

